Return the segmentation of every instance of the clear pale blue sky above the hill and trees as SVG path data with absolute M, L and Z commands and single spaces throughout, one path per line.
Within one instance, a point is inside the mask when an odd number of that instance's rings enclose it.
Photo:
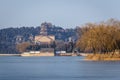
M 120 0 L 0 0 L 0 29 L 51 22 L 75 28 L 110 18 L 120 20 Z

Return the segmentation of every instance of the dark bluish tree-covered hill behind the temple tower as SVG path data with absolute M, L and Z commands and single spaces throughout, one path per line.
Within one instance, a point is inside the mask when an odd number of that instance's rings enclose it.
M 48 35 L 55 35 L 56 40 L 68 40 L 69 37 L 75 36 L 75 29 L 63 29 L 52 25 L 51 23 L 42 23 L 47 25 Z M 42 25 L 41 24 L 41 25 Z M 16 50 L 17 37 L 22 37 L 22 41 L 27 42 L 32 35 L 40 34 L 40 28 L 38 27 L 20 27 L 20 28 L 5 28 L 0 30 L 0 53 L 18 53 Z

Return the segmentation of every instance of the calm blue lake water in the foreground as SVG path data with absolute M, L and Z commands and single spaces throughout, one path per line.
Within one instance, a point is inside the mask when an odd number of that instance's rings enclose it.
M 120 80 L 120 62 L 82 57 L 0 57 L 0 80 Z

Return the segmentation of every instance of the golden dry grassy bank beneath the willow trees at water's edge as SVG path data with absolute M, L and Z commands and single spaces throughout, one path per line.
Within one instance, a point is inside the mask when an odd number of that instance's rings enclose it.
M 113 61 L 113 60 L 120 60 L 120 54 L 88 54 L 85 57 L 85 60 L 92 60 L 92 61 Z

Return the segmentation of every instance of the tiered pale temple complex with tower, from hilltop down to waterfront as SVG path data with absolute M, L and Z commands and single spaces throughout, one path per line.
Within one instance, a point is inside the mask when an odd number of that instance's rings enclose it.
M 51 24 L 49 24 L 51 25 Z M 42 23 L 40 27 L 40 34 L 34 37 L 34 45 L 30 47 L 31 51 L 22 53 L 21 56 L 54 56 L 55 36 L 48 35 L 47 23 Z M 30 36 L 32 41 L 33 36 Z M 33 50 L 32 50 L 33 49 Z

